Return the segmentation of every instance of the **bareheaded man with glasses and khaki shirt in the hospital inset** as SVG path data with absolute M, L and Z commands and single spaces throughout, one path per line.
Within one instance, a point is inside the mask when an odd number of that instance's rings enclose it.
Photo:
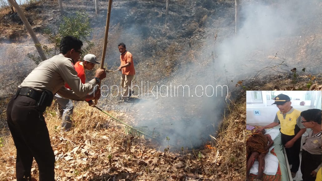
M 303 111 L 301 116 L 302 124 L 312 129 L 302 146 L 302 179 L 315 181 L 322 162 L 322 112 L 320 109 L 308 109 Z

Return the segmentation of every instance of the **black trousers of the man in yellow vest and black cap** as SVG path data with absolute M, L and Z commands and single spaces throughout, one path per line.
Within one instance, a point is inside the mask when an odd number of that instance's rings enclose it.
M 289 136 L 281 133 L 282 144 L 285 145 L 289 140 L 292 140 L 295 137 Z M 298 168 L 300 167 L 300 149 L 301 149 L 301 137 L 295 141 L 294 145 L 291 148 L 285 148 L 287 159 L 289 160 L 289 164 L 292 164 L 291 172 L 298 172 Z

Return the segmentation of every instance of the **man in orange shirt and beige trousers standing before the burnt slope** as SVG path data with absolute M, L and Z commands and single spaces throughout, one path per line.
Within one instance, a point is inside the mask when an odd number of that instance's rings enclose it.
M 118 44 L 118 51 L 121 53 L 121 65 L 118 69 L 122 71 L 121 87 L 124 89 L 124 93 L 121 93 L 121 99 L 126 101 L 128 100 L 128 97 L 134 93 L 134 91 L 130 89 L 130 85 L 135 75 L 134 62 L 132 54 L 126 50 L 124 43 Z

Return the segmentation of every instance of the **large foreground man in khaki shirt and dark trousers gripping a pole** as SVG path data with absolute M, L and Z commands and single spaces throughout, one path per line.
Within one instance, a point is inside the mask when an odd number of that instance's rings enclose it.
M 43 112 L 52 103 L 53 95 L 73 100 L 99 98 L 87 95 L 106 77 L 105 70 L 96 70 L 90 82 L 82 84 L 74 64 L 80 59 L 83 43 L 72 36 L 62 38 L 60 54 L 41 62 L 19 85 L 17 93 L 7 107 L 7 122 L 17 149 L 17 181 L 32 180 L 31 166 L 35 158 L 39 168 L 39 181 L 54 181 L 55 155 Z M 72 88 L 65 88 L 65 83 Z

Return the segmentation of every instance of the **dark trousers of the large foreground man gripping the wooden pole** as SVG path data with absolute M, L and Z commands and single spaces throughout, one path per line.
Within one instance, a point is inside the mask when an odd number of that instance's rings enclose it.
M 6 113 L 17 149 L 17 181 L 31 180 L 33 158 L 38 164 L 39 181 L 55 180 L 55 156 L 43 113 L 37 110 L 36 101 L 24 95 L 13 96 Z

